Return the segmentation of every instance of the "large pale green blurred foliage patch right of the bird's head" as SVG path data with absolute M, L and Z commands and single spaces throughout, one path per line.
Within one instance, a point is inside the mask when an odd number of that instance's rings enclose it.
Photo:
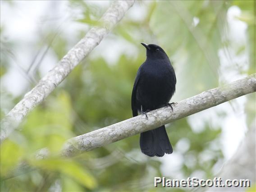
M 182 71 L 181 78 L 187 79 L 183 84 L 187 87 L 186 96 L 218 86 L 218 49 L 227 9 L 223 1 L 170 1 L 159 4 L 153 12 L 150 24 L 159 44 L 169 55 L 175 53 L 177 59 L 182 57 L 182 65 L 175 67 Z M 169 13 L 173 14 L 166 19 Z M 163 35 L 165 33 L 169 35 Z M 200 75 L 195 78 L 192 74 Z M 189 86 L 191 84 L 196 86 Z

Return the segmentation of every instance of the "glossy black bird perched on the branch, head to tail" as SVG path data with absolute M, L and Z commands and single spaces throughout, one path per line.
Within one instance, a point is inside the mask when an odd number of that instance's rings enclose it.
M 137 116 L 138 112 L 146 115 L 148 111 L 163 106 L 172 108 L 173 103 L 170 104 L 169 101 L 176 85 L 174 68 L 165 51 L 155 44 L 141 44 L 146 47 L 146 61 L 138 69 L 133 85 L 133 117 Z M 173 152 L 165 125 L 141 133 L 140 147 L 142 153 L 151 157 L 162 157 L 165 153 Z

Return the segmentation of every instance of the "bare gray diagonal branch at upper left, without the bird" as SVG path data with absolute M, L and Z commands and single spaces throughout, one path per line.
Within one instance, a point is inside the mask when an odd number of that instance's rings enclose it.
M 134 0 L 114 1 L 101 17 L 99 25 L 91 28 L 58 64 L 18 102 L 1 121 L 0 142 L 18 127 L 29 111 L 40 104 L 60 82 L 93 50 L 110 30 L 123 18 Z

